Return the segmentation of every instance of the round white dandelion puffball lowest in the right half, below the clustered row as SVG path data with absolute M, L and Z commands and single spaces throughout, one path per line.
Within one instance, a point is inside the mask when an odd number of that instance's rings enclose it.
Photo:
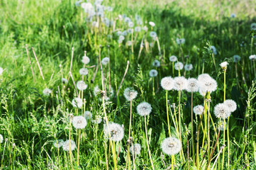
M 167 137 L 162 141 L 161 148 L 165 154 L 174 155 L 182 149 L 182 142 L 175 137 Z

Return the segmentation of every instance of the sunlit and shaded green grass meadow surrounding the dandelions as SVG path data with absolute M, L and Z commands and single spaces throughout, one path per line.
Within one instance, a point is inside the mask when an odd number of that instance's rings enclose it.
M 132 129 L 133 144 L 140 143 L 142 150 L 135 159 L 137 169 L 152 169 L 148 156 L 147 141 L 145 137 L 144 120 L 136 111 L 136 106 L 147 101 L 152 105 L 152 113 L 148 118 L 148 137 L 150 151 L 155 169 L 167 169 L 172 164 L 171 156 L 164 154 L 161 143 L 169 137 L 167 128 L 167 115 L 165 105 L 165 90 L 160 86 L 160 80 L 166 76 L 177 77 L 178 72 L 172 74 L 172 63 L 169 56 L 176 55 L 179 61 L 184 57 L 184 63 L 193 64 L 191 72 L 186 72 L 186 78 L 208 73 L 218 82 L 218 88 L 211 94 L 211 117 L 215 126 L 218 119 L 213 114 L 213 108 L 223 102 L 223 71 L 219 64 L 228 61 L 226 72 L 226 98 L 233 99 L 237 110 L 232 113 L 229 120 L 230 166 L 228 167 L 228 149 L 226 147 L 224 169 L 256 169 L 255 147 L 255 70 L 249 56 L 255 54 L 254 34 L 250 24 L 255 22 L 254 1 L 104 1 L 104 6 L 112 6 L 113 12 L 106 12 L 107 18 L 118 18 L 118 14 L 126 14 L 135 22 L 135 14 L 140 15 L 143 26 L 153 21 L 156 26 L 152 28 L 157 33 L 160 42 L 160 52 L 157 42 L 148 50 L 143 48 L 140 59 L 140 42 L 144 31 L 138 34 L 135 41 L 134 52 L 126 45 L 130 35 L 123 43 L 118 44 L 118 36 L 112 33 L 112 28 L 102 24 L 101 29 L 91 28 L 86 22 L 82 8 L 74 6 L 75 1 L 0 1 L 0 67 L 4 69 L 0 75 L 0 134 L 8 139 L 0 144 L 0 162 L 2 169 L 72 169 L 69 153 L 53 146 L 56 140 L 68 140 L 69 130 L 71 138 L 77 143 L 78 131 L 69 125 L 69 114 L 82 115 L 82 110 L 72 106 L 71 101 L 76 96 L 72 79 L 64 87 L 64 78 L 69 76 L 72 47 L 74 59 L 72 62 L 72 75 L 74 81 L 82 76 L 79 69 L 84 51 L 90 58 L 89 66 L 97 64 L 98 56 L 111 59 L 111 86 L 114 96 L 106 102 L 108 121 L 124 125 L 125 137 L 116 142 L 116 153 L 119 145 L 118 169 L 124 169 L 127 157 L 128 127 L 130 118 L 130 102 L 126 101 L 123 91 L 133 87 L 138 96 L 133 101 Z M 236 13 L 236 18 L 230 18 L 230 13 Z M 119 25 L 116 20 L 116 29 L 126 30 L 123 22 Z M 111 35 L 110 38 L 108 35 Z M 176 38 L 185 38 L 181 47 L 177 45 Z M 251 41 L 253 40 L 253 42 Z M 145 36 L 145 45 L 152 42 L 152 38 Z M 240 44 L 244 42 L 243 46 Z M 252 42 L 252 45 L 251 45 Z M 32 62 L 35 81 L 26 54 L 28 45 L 29 57 Z M 99 46 L 101 45 L 101 54 Z M 216 67 L 213 65 L 211 51 L 208 47 L 214 45 L 218 54 L 215 55 Z M 45 80 L 40 75 L 38 64 L 31 50 L 34 48 Z M 238 62 L 238 79 L 235 74 L 233 55 L 240 55 Z M 158 76 L 154 80 L 149 76 L 152 62 L 157 59 L 161 67 L 157 68 Z M 116 97 L 116 91 L 121 84 L 127 62 L 130 62 L 128 73 L 123 81 L 121 90 Z M 61 64 L 61 67 L 60 67 Z M 92 118 L 96 115 L 104 117 L 104 107 L 101 95 L 94 96 L 94 86 L 101 88 L 100 69 L 94 77 L 96 67 L 88 68 L 89 74 L 84 78 L 87 89 L 84 91 L 86 99 L 85 110 L 91 111 Z M 108 78 L 108 67 L 103 67 Z M 182 75 L 184 71 L 182 70 Z M 104 81 L 108 85 L 108 79 Z M 153 83 L 154 82 L 154 83 Z M 153 93 L 153 87 L 154 92 Z M 60 88 L 60 93 L 58 91 Z M 159 89 L 157 89 L 159 87 Z M 43 89 L 52 89 L 50 96 L 43 95 Z M 108 89 L 108 86 L 106 87 Z M 179 104 L 177 91 L 169 91 L 169 103 Z M 61 101 L 60 101 L 61 98 Z M 192 167 L 191 152 L 191 94 L 182 92 L 182 149 L 185 159 L 175 155 L 175 169 L 188 169 L 187 166 L 187 139 L 189 140 L 189 168 Z M 199 93 L 194 94 L 193 105 L 203 104 L 204 99 Z M 174 112 L 169 107 L 169 111 Z M 177 108 L 176 108 L 176 112 Z M 176 136 L 174 122 L 169 112 L 171 134 Z M 196 121 L 196 120 L 194 120 Z M 77 167 L 77 149 L 72 152 L 74 169 L 113 169 L 113 152 L 107 137 L 104 137 L 104 121 L 95 124 L 88 120 L 87 127 L 82 130 L 79 149 L 79 167 Z M 184 124 L 185 123 L 185 124 Z M 203 118 L 203 125 L 206 125 Z M 196 125 L 196 123 L 194 123 Z M 200 129 L 201 130 L 201 129 Z M 213 124 L 210 127 L 211 145 L 215 144 Z M 194 133 L 196 128 L 194 128 Z M 187 134 L 187 136 L 186 136 Z M 226 134 L 227 135 L 227 134 Z M 195 135 L 194 135 L 195 136 Z M 219 147 L 223 144 L 223 131 L 219 137 Z M 199 146 L 203 145 L 203 132 L 199 134 Z M 199 161 L 201 169 L 205 169 L 208 155 L 204 157 L 206 144 L 200 148 Z M 15 147 L 13 145 L 16 145 Z M 227 136 L 226 136 L 227 146 Z M 109 149 L 109 150 L 108 150 Z M 246 154 L 245 154 L 246 153 Z M 107 157 L 106 157 L 107 154 Z M 213 153 L 211 166 L 216 160 L 218 149 Z M 108 162 L 106 162 L 108 159 Z M 204 160 L 203 160 L 204 159 Z M 222 154 L 220 154 L 220 160 Z M 52 164 L 53 162 L 53 164 Z M 132 157 L 131 157 L 132 162 Z M 203 168 L 204 167 L 204 168 Z M 130 164 L 130 169 L 133 164 Z M 214 169 L 221 169 L 217 162 Z

